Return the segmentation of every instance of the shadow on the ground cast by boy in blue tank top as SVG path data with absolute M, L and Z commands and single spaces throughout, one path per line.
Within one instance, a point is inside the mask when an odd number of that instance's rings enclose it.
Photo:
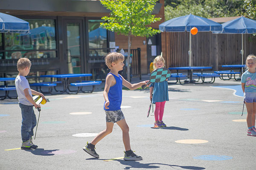
M 125 161 L 125 160 L 115 160 L 119 161 L 123 165 L 128 165 L 125 167 L 125 170 L 129 170 L 131 168 L 159 168 L 159 166 L 156 166 L 158 163 L 148 163 L 148 164 L 142 164 L 139 161 Z M 155 164 L 155 165 L 154 165 Z M 173 169 L 176 169 L 175 167 L 181 167 L 183 169 L 189 169 L 189 170 L 204 170 L 204 167 L 194 167 L 194 166 L 178 166 L 178 165 L 170 165 L 170 164 L 158 164 L 158 165 L 166 165 L 169 167 L 172 167 Z

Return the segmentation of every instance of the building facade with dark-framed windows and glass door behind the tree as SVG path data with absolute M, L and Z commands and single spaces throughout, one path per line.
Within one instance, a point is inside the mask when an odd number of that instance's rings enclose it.
M 101 17 L 110 13 L 98 0 L 2 0 L 0 12 L 29 22 L 30 34 L 0 34 L 0 77 L 17 74 L 17 60 L 32 61 L 31 74 L 92 73 L 105 78 L 103 56 L 128 48 L 128 38 L 100 28 Z M 164 0 L 153 14 L 164 21 Z M 153 50 L 151 49 L 153 48 Z M 149 62 L 161 53 L 161 36 L 132 37 L 131 49 L 140 49 L 140 69 L 149 73 Z M 137 61 L 134 61 L 137 62 Z

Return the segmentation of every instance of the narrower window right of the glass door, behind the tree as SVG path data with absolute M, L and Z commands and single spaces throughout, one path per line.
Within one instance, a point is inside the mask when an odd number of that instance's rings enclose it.
M 104 56 L 107 52 L 107 30 L 100 27 L 103 20 L 89 20 L 89 56 L 91 59 Z

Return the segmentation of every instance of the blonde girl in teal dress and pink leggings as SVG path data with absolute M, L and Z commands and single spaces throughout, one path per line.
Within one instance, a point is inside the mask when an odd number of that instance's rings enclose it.
M 154 59 L 154 69 L 164 67 L 165 60 L 162 56 L 157 56 Z M 150 85 L 150 100 L 156 105 L 154 111 L 154 127 L 166 127 L 163 122 L 163 111 L 166 101 L 169 101 L 168 82 L 155 82 Z

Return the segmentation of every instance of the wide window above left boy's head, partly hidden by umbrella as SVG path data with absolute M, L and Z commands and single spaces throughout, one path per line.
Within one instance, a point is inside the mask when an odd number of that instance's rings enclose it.
M 1 34 L 0 59 L 56 57 L 55 20 L 26 21 L 30 25 L 29 34 Z

